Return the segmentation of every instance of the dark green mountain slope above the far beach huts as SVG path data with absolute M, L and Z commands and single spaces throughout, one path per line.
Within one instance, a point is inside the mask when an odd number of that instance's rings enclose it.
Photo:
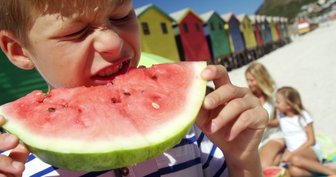
M 265 0 L 255 14 L 283 16 L 291 20 L 301 12 L 301 6 L 316 1 L 317 0 Z

